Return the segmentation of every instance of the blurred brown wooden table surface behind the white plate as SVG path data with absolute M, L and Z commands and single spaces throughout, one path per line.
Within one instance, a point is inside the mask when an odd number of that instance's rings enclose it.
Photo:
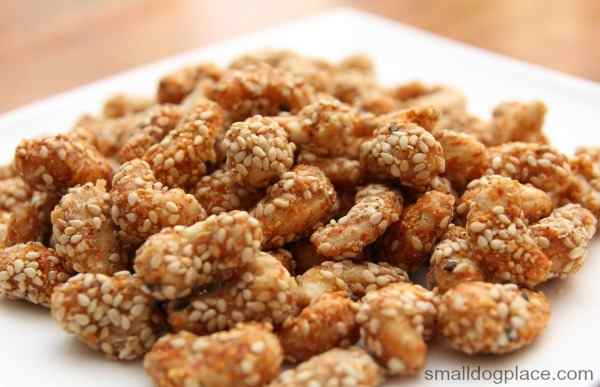
M 335 6 L 600 81 L 599 0 L 0 0 L 0 112 Z

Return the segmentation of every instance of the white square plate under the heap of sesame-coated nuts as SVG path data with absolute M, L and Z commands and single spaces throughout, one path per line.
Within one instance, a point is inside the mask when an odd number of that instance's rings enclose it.
M 543 43 L 540 43 L 543 44 Z M 150 94 L 161 74 L 186 63 L 233 56 L 258 48 L 291 48 L 305 54 L 339 59 L 364 52 L 387 84 L 421 79 L 460 87 L 471 110 L 489 115 L 508 99 L 542 99 L 550 107 L 546 132 L 565 152 L 578 144 L 600 144 L 600 86 L 589 81 L 523 64 L 429 33 L 350 9 L 337 9 L 298 22 L 178 55 L 88 86 L 48 98 L 0 117 L 0 160 L 6 162 L 21 138 L 69 128 L 84 112 L 95 112 L 109 95 L 126 91 Z M 583 270 L 544 290 L 552 301 L 550 325 L 538 342 L 502 357 L 467 357 L 443 343 L 430 346 L 428 370 L 591 370 L 600 381 L 600 243 L 593 244 Z M 150 386 L 141 364 L 105 360 L 64 333 L 42 308 L 0 301 L 0 385 L 46 387 Z M 437 386 L 425 373 L 398 378 L 386 386 Z M 456 381 L 454 385 L 494 385 L 492 381 Z M 512 382 L 509 385 L 592 386 L 592 380 Z

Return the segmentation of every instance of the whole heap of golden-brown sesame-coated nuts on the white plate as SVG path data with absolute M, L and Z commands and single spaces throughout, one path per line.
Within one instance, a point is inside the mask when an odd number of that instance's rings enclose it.
M 545 113 L 479 118 L 451 87 L 378 84 L 361 55 L 186 67 L 18 145 L 0 294 L 159 387 L 377 386 L 434 336 L 513 352 L 600 216 L 600 148 L 561 153 Z

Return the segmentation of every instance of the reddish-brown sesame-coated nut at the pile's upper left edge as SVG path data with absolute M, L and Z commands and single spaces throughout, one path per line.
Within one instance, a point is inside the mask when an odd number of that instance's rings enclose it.
M 62 134 L 21 141 L 15 168 L 33 189 L 56 192 L 98 179 L 110 181 L 112 173 L 96 149 Z

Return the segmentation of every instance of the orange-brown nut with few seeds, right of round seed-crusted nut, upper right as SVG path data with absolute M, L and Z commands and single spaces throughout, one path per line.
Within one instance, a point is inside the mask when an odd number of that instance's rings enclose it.
M 462 191 L 471 180 L 481 177 L 488 169 L 487 148 L 473 135 L 441 130 L 437 132 L 436 139 L 444 149 L 444 176 L 457 190 Z

